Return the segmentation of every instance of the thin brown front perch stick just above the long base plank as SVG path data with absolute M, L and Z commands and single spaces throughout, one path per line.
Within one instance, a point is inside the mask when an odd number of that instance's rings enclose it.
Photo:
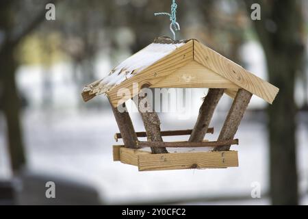
M 238 139 L 222 140 L 218 142 L 138 142 L 138 146 L 142 147 L 157 147 L 157 148 L 190 148 L 190 147 L 204 147 L 204 146 L 224 146 L 224 145 L 238 144 Z

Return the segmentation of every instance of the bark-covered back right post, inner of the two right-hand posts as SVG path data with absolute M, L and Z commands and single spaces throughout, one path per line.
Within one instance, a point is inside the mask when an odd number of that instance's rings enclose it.
M 194 129 L 192 129 L 192 135 L 188 142 L 203 142 L 216 105 L 223 94 L 224 89 L 209 89 L 209 92 L 207 92 L 207 96 L 205 96 L 203 104 L 200 107 L 196 125 L 194 125 Z

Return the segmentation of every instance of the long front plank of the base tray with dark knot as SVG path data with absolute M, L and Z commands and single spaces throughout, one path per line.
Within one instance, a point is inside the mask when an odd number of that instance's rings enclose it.
M 237 151 L 138 155 L 139 171 L 228 168 L 237 166 Z

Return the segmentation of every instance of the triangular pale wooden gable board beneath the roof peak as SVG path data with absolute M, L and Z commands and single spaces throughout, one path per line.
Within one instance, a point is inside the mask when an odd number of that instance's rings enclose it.
M 151 88 L 240 88 L 235 83 L 192 60 Z

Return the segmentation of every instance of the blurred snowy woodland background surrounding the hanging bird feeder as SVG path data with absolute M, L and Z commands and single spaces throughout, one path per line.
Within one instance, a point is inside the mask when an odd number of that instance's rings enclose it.
M 55 21 L 47 21 L 47 3 Z M 105 96 L 84 86 L 171 36 L 166 0 L 0 2 L 0 205 L 308 204 L 308 1 L 178 0 L 178 38 L 196 38 L 280 88 L 273 105 L 254 96 L 236 138 L 239 168 L 138 172 L 112 161 L 118 132 Z M 251 5 L 261 5 L 252 21 Z M 206 89 L 191 89 L 187 119 L 160 113 L 162 129 L 192 129 Z M 231 99 L 211 127 L 216 140 Z M 129 103 L 128 103 L 129 104 Z M 131 113 L 143 131 L 138 113 Z M 164 138 L 164 140 L 187 140 Z M 56 198 L 45 183 L 54 181 Z M 256 184 L 257 183 L 257 184 Z M 259 185 L 261 198 L 252 198 Z

